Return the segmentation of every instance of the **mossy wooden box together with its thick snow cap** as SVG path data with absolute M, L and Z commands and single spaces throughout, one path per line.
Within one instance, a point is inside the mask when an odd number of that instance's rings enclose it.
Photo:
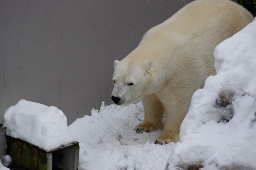
M 67 117 L 55 106 L 21 99 L 4 114 L 11 169 L 77 170 L 79 143 L 68 132 Z

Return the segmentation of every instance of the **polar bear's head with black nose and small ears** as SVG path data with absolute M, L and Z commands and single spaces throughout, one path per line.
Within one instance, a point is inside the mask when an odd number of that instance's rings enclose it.
M 152 61 L 138 62 L 130 59 L 114 61 L 112 101 L 116 105 L 129 105 L 145 96 L 151 81 Z

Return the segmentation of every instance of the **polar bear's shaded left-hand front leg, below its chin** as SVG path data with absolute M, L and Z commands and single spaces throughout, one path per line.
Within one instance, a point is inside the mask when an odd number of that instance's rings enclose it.
M 152 132 L 163 128 L 164 108 L 156 94 L 150 94 L 142 99 L 145 118 L 135 127 L 137 133 Z

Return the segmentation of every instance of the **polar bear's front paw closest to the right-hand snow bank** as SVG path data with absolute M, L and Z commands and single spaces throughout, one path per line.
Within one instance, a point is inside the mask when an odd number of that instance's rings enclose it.
M 159 136 L 155 144 L 169 144 L 171 142 L 177 143 L 180 141 L 179 133 L 165 132 Z

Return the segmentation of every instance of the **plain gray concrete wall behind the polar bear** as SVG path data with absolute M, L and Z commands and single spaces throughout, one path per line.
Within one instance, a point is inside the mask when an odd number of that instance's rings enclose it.
M 111 104 L 114 59 L 190 1 L 0 0 L 0 124 L 19 99 L 58 107 L 68 125 Z

